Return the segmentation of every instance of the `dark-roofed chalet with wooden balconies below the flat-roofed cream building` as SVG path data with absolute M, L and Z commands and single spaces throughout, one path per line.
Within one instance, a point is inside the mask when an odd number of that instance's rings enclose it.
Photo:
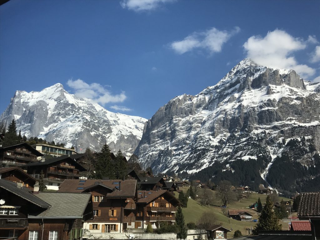
M 79 172 L 86 171 L 83 166 L 67 155 L 29 163 L 24 168 L 27 168 L 28 174 L 36 179 L 43 172 L 44 184 L 47 189 L 52 190 L 58 190 L 61 182 L 66 179 L 79 179 L 81 177 Z

